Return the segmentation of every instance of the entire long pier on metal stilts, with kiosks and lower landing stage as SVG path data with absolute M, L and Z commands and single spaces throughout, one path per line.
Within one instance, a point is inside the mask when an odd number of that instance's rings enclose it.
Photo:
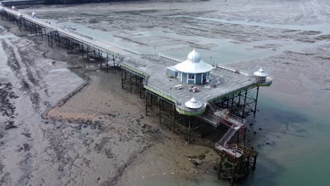
M 68 53 L 79 51 L 82 58 L 93 59 L 100 68 L 120 68 L 121 88 L 130 93 L 138 92 L 140 98 L 145 99 L 145 115 L 158 107 L 159 123 L 168 120 L 173 132 L 178 127 L 183 128 L 188 143 L 193 130 L 203 128 L 207 135 L 208 128 L 228 128 L 214 144 L 214 149 L 221 154 L 219 179 L 233 185 L 255 169 L 258 154 L 244 145 L 247 129 L 244 118 L 257 112 L 259 87 L 270 86 L 273 80 L 262 68 L 253 75 L 224 66 L 213 66 L 201 73 L 185 73 L 177 68 L 185 61 L 171 56 L 142 54 L 94 39 L 41 20 L 36 14 L 20 13 L 15 7 L 1 7 L 0 14 L 1 19 L 18 25 L 20 30 L 47 37 L 49 47 L 66 47 Z M 198 61 L 199 55 L 194 49 L 187 61 L 202 63 Z

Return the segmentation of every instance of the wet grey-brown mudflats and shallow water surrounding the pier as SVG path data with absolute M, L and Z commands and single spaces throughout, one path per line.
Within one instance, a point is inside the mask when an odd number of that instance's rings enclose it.
M 329 7 L 325 0 L 148 1 L 24 11 L 37 10 L 54 23 L 146 53 L 184 59 L 195 46 L 212 64 L 250 73 L 263 66 L 275 80 L 260 89 L 259 111 L 249 118 L 247 145 L 260 154 L 257 170 L 240 185 L 326 185 Z M 1 45 L 14 62 L 7 65 L 1 55 L 1 87 L 6 87 L 1 103 L 9 113 L 1 118 L 7 122 L 0 128 L 1 183 L 226 185 L 214 175 L 214 151 L 187 147 L 183 135 L 157 124 L 156 114 L 145 117 L 143 100 L 120 89 L 116 70 L 98 71 L 97 64 L 45 44 L 24 53 L 19 48 L 38 46 L 35 38 L 5 35 L 10 38 Z M 27 54 L 39 62 L 22 57 Z M 30 72 L 26 64 L 34 65 Z M 24 122 L 31 118 L 32 124 Z M 195 135 L 196 144 L 212 144 Z M 186 159 L 200 154 L 207 154 L 202 168 Z

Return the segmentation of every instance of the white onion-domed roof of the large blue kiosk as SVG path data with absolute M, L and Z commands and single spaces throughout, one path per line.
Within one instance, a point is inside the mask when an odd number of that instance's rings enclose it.
M 213 69 L 211 65 L 201 60 L 200 54 L 195 49 L 188 54 L 186 61 L 176 64 L 175 67 L 183 73 L 207 73 Z

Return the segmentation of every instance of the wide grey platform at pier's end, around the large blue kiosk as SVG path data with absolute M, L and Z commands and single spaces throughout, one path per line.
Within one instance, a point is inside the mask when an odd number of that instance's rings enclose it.
M 155 94 L 159 94 L 161 97 L 169 99 L 176 104 L 176 111 L 181 114 L 195 116 L 203 113 L 205 106 L 201 109 L 188 109 L 185 106 L 185 101 L 189 101 L 193 97 L 193 92 L 189 91 L 191 85 L 184 84 L 166 75 L 166 67 L 173 66 L 177 61 L 172 61 L 167 58 L 157 57 L 154 60 L 147 60 L 146 56 L 143 58 L 145 61 L 143 65 L 135 65 L 130 63 L 124 63 L 129 65 L 131 70 L 137 70 L 147 74 L 148 80 L 144 87 Z M 176 89 L 176 85 L 182 85 L 182 89 Z M 207 101 L 216 101 L 226 97 L 228 94 L 238 92 L 240 89 L 247 87 L 257 86 L 253 77 L 244 75 L 243 73 L 235 73 L 232 70 L 225 70 L 224 68 L 215 68 L 211 72 L 211 80 L 204 85 L 194 85 L 198 87 L 198 91 L 195 92 L 195 98 L 202 103 Z

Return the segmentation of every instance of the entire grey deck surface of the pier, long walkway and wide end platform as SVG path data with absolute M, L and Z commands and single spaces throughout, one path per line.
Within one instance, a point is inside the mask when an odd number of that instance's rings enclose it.
M 10 8 L 4 8 L 4 10 L 6 13 L 18 17 L 18 11 Z M 90 36 L 81 35 L 79 32 L 47 23 L 47 21 L 38 18 L 32 18 L 30 15 L 21 14 L 23 15 L 23 19 L 28 20 L 31 23 L 40 25 L 50 31 L 59 32 L 61 35 L 70 37 L 78 42 L 92 46 L 95 49 L 100 49 L 106 54 L 112 54 L 120 58 L 119 65 L 121 68 L 125 68 L 132 73 L 144 77 L 145 81 L 143 86 L 145 89 L 159 95 L 159 97 L 172 101 L 173 104 L 176 105 L 176 111 L 183 115 L 201 115 L 206 109 L 207 101 L 215 102 L 243 89 L 260 85 L 255 82 L 255 79 L 251 75 L 246 73 L 236 73 L 235 70 L 229 68 L 216 67 L 211 72 L 211 80 L 209 83 L 205 85 L 194 85 L 199 88 L 198 91 L 195 92 L 195 98 L 202 101 L 204 105 L 200 109 L 188 109 L 185 106 L 185 101 L 189 101 L 193 97 L 193 92 L 189 91 L 191 85 L 183 84 L 182 89 L 175 89 L 174 87 L 176 85 L 181 85 L 182 83 L 175 78 L 166 75 L 166 67 L 173 66 L 178 63 L 178 61 L 171 60 L 170 57 L 162 55 L 140 54 L 137 51 L 126 49 L 99 39 L 94 39 Z M 267 82 L 265 85 L 270 84 Z

